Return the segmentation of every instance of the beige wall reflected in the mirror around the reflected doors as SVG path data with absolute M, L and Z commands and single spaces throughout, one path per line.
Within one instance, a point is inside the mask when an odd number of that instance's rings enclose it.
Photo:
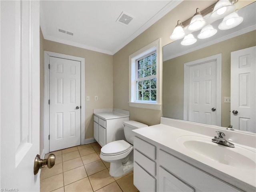
M 230 125 L 230 53 L 256 45 L 256 30 L 163 62 L 163 116 L 183 119 L 184 63 L 222 54 L 222 126 Z

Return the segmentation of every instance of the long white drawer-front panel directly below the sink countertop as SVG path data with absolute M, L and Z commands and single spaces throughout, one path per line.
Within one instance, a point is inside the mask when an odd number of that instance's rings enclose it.
M 209 191 L 209 189 L 214 189 L 216 192 L 240 191 L 163 150 L 159 150 L 159 163 L 196 191 Z

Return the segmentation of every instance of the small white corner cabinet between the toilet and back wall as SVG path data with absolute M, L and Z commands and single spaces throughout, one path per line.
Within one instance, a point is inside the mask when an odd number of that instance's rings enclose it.
M 94 138 L 104 146 L 116 140 L 125 140 L 124 121 L 129 120 L 129 111 L 120 109 L 94 109 Z

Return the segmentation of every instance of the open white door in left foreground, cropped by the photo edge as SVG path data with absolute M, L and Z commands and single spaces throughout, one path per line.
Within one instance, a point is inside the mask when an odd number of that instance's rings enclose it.
M 1 1 L 1 191 L 40 191 L 39 1 Z

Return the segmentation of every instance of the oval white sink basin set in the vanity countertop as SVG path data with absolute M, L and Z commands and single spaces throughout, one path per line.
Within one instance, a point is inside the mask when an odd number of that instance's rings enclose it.
M 177 139 L 186 149 L 215 162 L 242 169 L 256 169 L 256 153 L 235 145 L 230 148 L 216 144 L 210 138 L 181 136 Z

